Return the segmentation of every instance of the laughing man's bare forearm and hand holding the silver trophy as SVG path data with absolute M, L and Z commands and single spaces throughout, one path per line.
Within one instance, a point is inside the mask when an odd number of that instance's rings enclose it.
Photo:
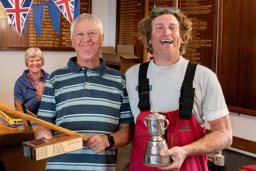
M 179 170 L 182 163 L 188 156 L 199 156 L 217 152 L 228 148 L 232 143 L 232 131 L 229 116 L 208 121 L 211 125 L 211 133 L 201 139 L 182 146 L 172 147 L 169 150 L 160 152 L 161 156 L 172 156 L 173 163 L 167 167 L 160 167 L 162 170 Z

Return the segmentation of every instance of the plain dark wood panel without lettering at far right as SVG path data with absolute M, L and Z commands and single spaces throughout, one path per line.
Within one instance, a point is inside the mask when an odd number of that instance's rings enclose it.
M 229 110 L 256 116 L 256 1 L 219 3 L 217 76 Z

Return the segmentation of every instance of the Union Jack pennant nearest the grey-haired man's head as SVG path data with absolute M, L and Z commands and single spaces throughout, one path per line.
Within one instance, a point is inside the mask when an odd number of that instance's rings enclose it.
M 74 19 L 74 1 L 75 0 L 53 0 L 53 2 L 59 7 L 64 17 L 70 22 Z

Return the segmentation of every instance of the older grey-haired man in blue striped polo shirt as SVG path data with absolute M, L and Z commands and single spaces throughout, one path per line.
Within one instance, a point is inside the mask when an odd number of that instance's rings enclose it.
M 116 170 L 115 149 L 131 141 L 133 116 L 125 77 L 100 58 L 102 30 L 93 15 L 78 16 L 70 27 L 77 56 L 45 84 L 37 117 L 90 136 L 83 149 L 48 158 L 47 171 Z M 52 131 L 39 126 L 35 136 L 51 138 Z

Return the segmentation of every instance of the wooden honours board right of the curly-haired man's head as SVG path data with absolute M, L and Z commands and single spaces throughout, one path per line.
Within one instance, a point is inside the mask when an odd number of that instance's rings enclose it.
M 217 50 L 217 1 L 179 0 L 178 7 L 193 23 L 192 40 L 184 58 L 215 72 Z

